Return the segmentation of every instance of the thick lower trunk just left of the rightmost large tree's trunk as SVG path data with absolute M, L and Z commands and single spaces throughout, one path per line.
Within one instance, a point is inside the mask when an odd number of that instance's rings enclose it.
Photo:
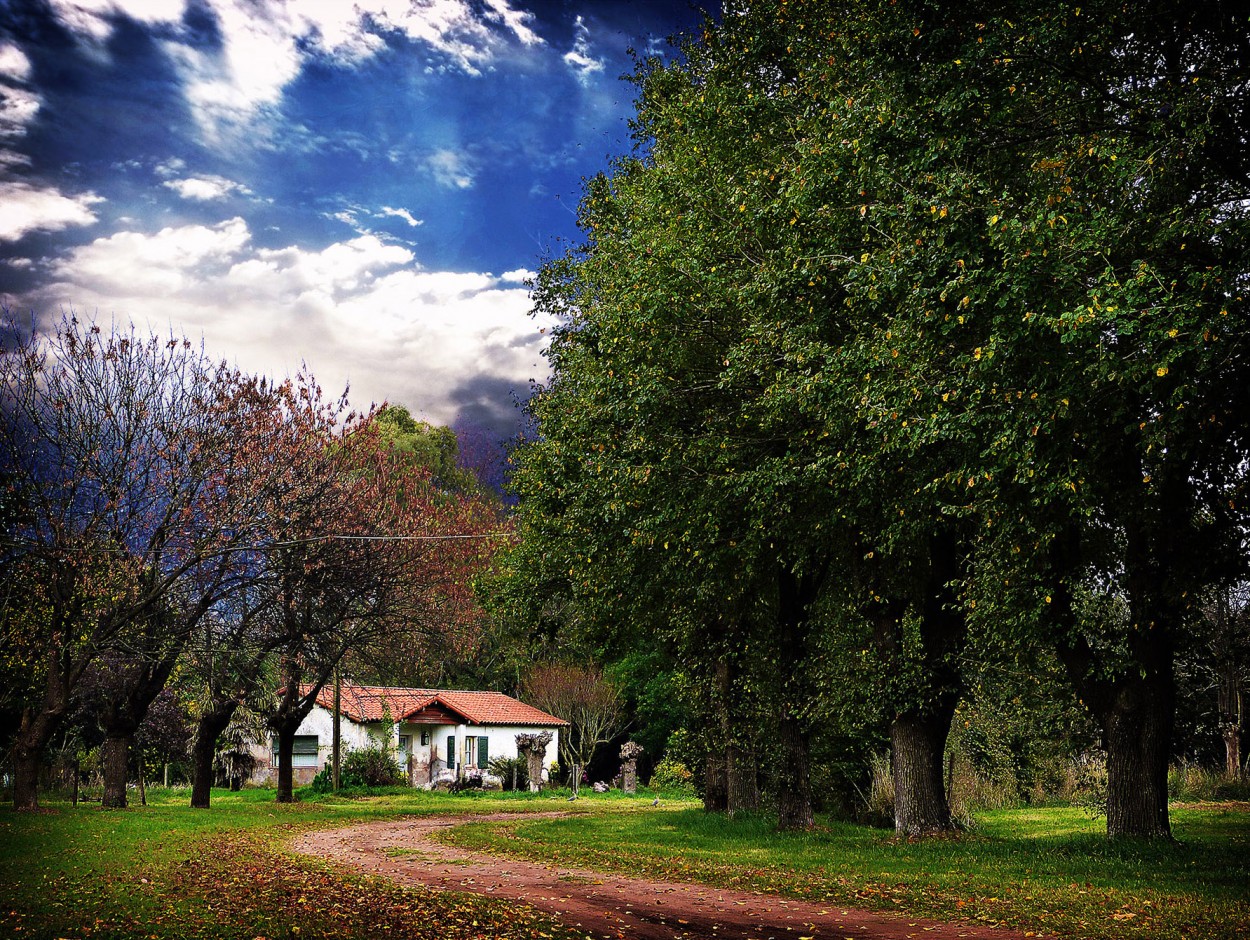
M 894 772 L 894 831 L 902 836 L 948 832 L 954 828 L 942 784 L 942 755 L 954 696 L 926 714 L 899 715 L 890 725 Z

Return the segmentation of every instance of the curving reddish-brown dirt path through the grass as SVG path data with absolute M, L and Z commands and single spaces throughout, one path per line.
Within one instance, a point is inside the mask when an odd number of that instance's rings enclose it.
M 560 815 L 560 814 L 550 814 Z M 599 938 L 676 940 L 830 938 L 834 940 L 1015 940 L 1022 934 L 984 926 L 786 900 L 704 885 L 649 881 L 602 871 L 482 856 L 442 845 L 431 834 L 468 821 L 515 819 L 428 816 L 369 822 L 300 836 L 296 851 L 349 864 L 400 884 L 524 901 Z M 1036 936 L 1041 936 L 1040 934 Z

